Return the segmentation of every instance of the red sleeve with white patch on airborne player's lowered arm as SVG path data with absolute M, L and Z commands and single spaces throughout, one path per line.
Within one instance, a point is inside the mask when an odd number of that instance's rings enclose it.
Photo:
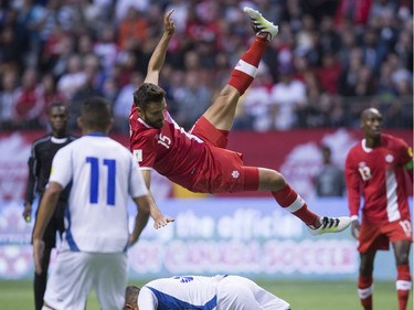
M 130 136 L 130 151 L 141 168 L 152 168 L 157 158 L 156 135 L 157 130 L 141 132 L 132 131 Z

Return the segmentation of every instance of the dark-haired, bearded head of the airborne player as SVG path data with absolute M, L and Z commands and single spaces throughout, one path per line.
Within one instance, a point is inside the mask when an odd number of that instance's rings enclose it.
M 139 117 L 155 128 L 163 126 L 167 109 L 166 92 L 151 83 L 144 83 L 134 92 L 134 103 Z

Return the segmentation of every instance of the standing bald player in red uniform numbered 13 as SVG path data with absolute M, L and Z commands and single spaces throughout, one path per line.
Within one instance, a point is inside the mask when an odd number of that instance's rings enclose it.
M 369 108 L 361 115 L 364 139 L 348 153 L 346 180 L 351 233 L 359 240 L 358 292 L 365 310 L 372 309 L 373 264 L 376 250 L 389 249 L 396 259 L 399 309 L 406 309 L 412 286 L 410 248 L 413 240 L 406 193 L 406 175 L 413 181 L 413 151 L 402 139 L 381 132 L 382 116 Z M 362 221 L 359 212 L 361 194 Z

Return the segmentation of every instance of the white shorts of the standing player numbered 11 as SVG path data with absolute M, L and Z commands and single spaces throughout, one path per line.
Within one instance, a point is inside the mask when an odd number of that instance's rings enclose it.
M 127 264 L 126 253 L 59 253 L 44 295 L 50 308 L 43 309 L 84 310 L 93 288 L 100 309 L 124 309 Z

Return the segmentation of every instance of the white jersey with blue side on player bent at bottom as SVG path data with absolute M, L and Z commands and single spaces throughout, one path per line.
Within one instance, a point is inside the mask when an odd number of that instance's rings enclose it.
M 180 276 L 150 281 L 139 291 L 138 308 L 142 310 L 216 309 L 217 282 L 224 277 Z

